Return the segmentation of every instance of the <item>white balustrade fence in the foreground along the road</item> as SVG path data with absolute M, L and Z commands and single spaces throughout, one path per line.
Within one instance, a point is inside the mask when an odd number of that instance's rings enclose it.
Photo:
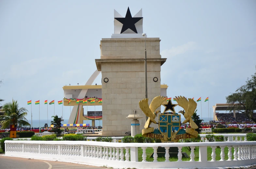
M 195 161 L 194 150 L 199 147 L 199 161 Z M 211 159 L 207 161 L 207 146 L 212 148 Z M 219 161 L 216 160 L 216 148 L 220 146 Z M 256 141 L 243 142 L 201 142 L 201 143 L 108 143 L 96 141 L 5 141 L 5 155 L 42 160 L 58 160 L 80 162 L 88 165 L 114 168 L 217 168 L 240 167 L 256 164 Z M 142 162 L 138 162 L 138 148 L 142 148 Z M 165 162 L 158 162 L 154 153 L 154 161 L 147 162 L 146 149 L 164 147 Z M 176 162 L 169 161 L 168 150 L 178 147 Z M 189 161 L 182 161 L 181 150 L 190 147 Z M 228 153 L 224 149 L 228 147 Z M 234 152 L 232 153 L 232 149 Z M 225 160 L 225 155 L 228 160 Z

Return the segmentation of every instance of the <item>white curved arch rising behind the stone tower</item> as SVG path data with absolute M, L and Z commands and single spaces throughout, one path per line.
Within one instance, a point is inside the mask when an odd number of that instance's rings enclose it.
M 101 71 L 96 70 L 96 71 L 91 75 L 91 77 L 87 80 L 87 82 L 85 83 L 85 85 L 92 85 L 92 83 L 93 83 L 94 80 L 98 77 L 98 75 L 99 75 L 100 72 L 101 72 Z M 79 95 L 78 95 L 78 98 L 84 98 L 85 95 L 86 95 L 86 93 L 87 93 L 87 91 L 88 91 L 88 89 L 82 89 L 82 91 L 81 91 L 81 92 L 79 93 Z M 68 124 L 73 124 L 73 123 L 74 123 L 74 120 L 75 120 L 75 118 L 76 118 L 77 108 L 78 108 L 78 106 L 74 106 L 74 107 L 73 107 L 73 109 L 72 109 L 72 111 L 71 111 L 71 114 L 70 114 L 70 116 L 69 116 L 69 119 L 68 119 Z M 79 106 L 79 113 L 80 113 L 81 109 L 82 109 L 82 105 Z M 79 119 L 79 117 L 80 117 L 80 116 L 79 116 L 79 113 L 78 113 L 78 121 L 80 121 L 80 119 Z

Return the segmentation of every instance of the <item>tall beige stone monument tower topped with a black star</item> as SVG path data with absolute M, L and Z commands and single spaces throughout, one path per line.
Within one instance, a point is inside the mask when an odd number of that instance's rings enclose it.
M 161 95 L 160 71 L 166 59 L 160 55 L 160 39 L 142 33 L 142 9 L 132 17 L 128 7 L 125 18 L 114 10 L 114 34 L 100 41 L 101 56 L 95 59 L 102 74 L 102 135 L 124 135 L 131 131 L 126 117 L 135 109 L 143 114 L 139 101 L 145 98 L 145 47 L 149 103 Z M 144 123 L 145 117 L 140 119 L 140 131 Z

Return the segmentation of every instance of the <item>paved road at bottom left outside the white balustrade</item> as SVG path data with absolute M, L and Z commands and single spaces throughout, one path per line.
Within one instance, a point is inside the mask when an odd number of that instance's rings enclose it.
M 95 167 L 90 165 L 58 162 L 58 161 L 46 161 L 35 160 L 18 157 L 6 157 L 0 155 L 0 168 L 1 169 L 104 169 L 104 167 Z

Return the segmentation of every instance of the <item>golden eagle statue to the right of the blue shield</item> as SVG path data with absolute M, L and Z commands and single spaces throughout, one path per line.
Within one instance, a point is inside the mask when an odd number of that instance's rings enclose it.
M 197 129 L 198 126 L 191 118 L 191 116 L 194 114 L 194 112 L 196 110 L 197 103 L 192 98 L 189 98 L 187 100 L 187 98 L 185 98 L 184 96 L 183 97 L 175 96 L 175 98 L 176 98 L 176 101 L 179 104 L 179 106 L 185 110 L 185 112 L 184 112 L 184 110 L 179 111 L 179 113 L 182 113 L 184 115 L 184 117 L 186 118 L 186 120 L 184 120 L 182 123 L 185 124 L 185 123 L 189 122 L 192 129 Z

